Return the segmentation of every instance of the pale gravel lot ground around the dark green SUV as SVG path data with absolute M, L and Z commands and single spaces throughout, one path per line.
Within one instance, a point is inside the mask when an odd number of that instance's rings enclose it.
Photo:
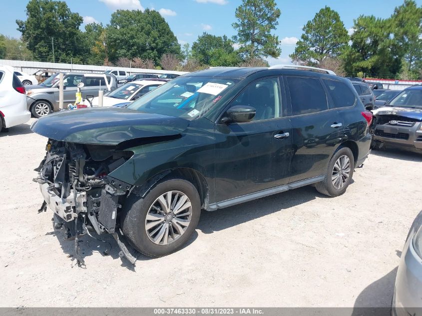
M 422 208 L 422 155 L 373 151 L 338 198 L 304 187 L 203 212 L 185 248 L 134 268 L 113 239 L 83 237 L 83 270 L 71 267 L 73 243 L 54 233 L 51 211 L 36 212 L 31 180 L 46 139 L 29 123 L 0 134 L 0 307 L 390 306 Z

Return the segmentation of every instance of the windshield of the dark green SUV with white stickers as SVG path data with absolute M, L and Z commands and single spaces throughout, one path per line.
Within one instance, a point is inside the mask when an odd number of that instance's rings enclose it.
M 238 81 L 215 77 L 178 77 L 140 97 L 128 108 L 195 119 L 208 112 Z

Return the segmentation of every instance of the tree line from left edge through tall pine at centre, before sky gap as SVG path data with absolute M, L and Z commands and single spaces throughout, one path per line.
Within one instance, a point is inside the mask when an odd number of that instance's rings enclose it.
M 0 34 L 0 58 L 193 71 L 208 66 L 267 65 L 280 55 L 271 34 L 281 12 L 275 0 L 242 0 L 233 38 L 204 32 L 180 46 L 156 10 L 117 10 L 108 24 L 89 23 L 65 1 L 30 0 L 26 20 L 16 20 L 21 38 Z M 234 48 L 236 47 L 236 49 Z

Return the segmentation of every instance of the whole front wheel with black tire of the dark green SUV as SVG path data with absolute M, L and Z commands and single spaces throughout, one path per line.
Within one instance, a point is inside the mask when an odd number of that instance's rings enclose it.
M 144 198 L 129 197 L 120 223 L 135 249 L 160 257 L 179 250 L 190 239 L 200 213 L 199 194 L 192 183 L 171 179 L 157 184 Z

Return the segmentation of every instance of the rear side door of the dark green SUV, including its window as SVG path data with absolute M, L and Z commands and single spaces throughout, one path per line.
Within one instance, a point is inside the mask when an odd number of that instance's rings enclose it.
M 292 183 L 326 172 L 333 147 L 341 141 L 342 120 L 329 107 L 327 91 L 318 77 L 287 76 L 285 83 L 293 127 Z

